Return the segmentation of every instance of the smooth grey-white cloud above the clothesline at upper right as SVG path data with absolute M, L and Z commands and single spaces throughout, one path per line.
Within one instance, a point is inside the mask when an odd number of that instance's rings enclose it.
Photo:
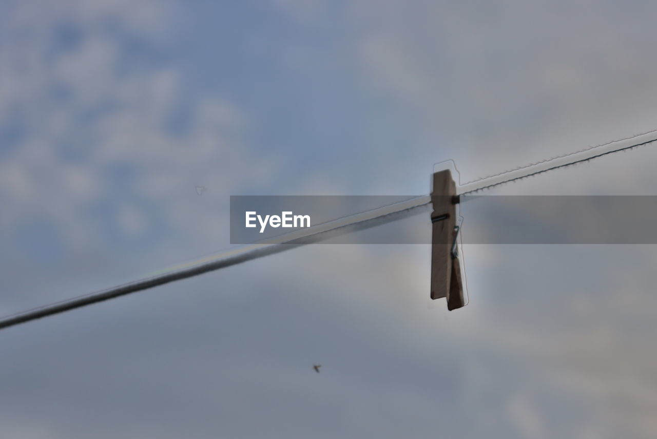
M 375 3 L 347 14 L 363 84 L 411 108 L 466 179 L 657 126 L 657 35 L 623 31 L 649 28 L 652 5 Z

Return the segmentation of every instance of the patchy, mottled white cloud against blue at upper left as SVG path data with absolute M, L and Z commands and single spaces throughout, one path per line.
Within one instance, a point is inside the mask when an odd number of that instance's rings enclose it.
M 227 199 L 242 181 L 267 179 L 275 166 L 240 142 L 248 121 L 213 95 L 187 104 L 189 130 L 168 131 L 168 118 L 190 99 L 183 96 L 179 66 L 132 68 L 123 39 L 139 32 L 161 46 L 166 39 L 160 34 L 175 26 L 175 14 L 167 3 L 128 3 L 21 2 L 13 12 L 9 32 L 27 36 L 0 44 L 0 115 L 11 120 L 16 114 L 24 135 L 0 165 L 3 233 L 11 235 L 23 218 L 39 217 L 56 223 L 66 242 L 93 248 L 105 239 L 101 221 L 118 221 L 128 234 L 143 229 L 143 215 L 125 207 L 137 203 L 190 242 L 216 248 L 226 243 L 207 241 L 225 219 L 216 201 L 223 204 L 220 197 Z M 119 24 L 118 33 L 99 26 L 108 19 Z M 52 52 L 62 24 L 78 26 L 80 41 Z M 53 87 L 69 97 L 53 96 Z M 120 168 L 131 175 L 116 175 Z M 215 203 L 191 196 L 198 181 Z M 99 202 L 118 215 L 89 214 Z

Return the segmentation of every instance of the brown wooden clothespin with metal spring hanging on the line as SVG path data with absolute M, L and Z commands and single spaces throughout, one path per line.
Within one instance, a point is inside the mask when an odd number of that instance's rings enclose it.
M 431 298 L 447 298 L 447 309 L 456 310 L 466 305 L 463 294 L 461 266 L 457 253 L 456 184 L 451 172 L 434 173 L 431 202 L 432 248 L 431 248 Z

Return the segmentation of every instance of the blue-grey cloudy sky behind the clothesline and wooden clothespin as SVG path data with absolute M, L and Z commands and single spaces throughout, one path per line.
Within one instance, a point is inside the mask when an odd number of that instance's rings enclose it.
M 655 129 L 655 12 L 5 0 L 0 313 L 230 248 L 230 195 L 425 195 Z M 656 159 L 488 193 L 656 195 Z M 657 248 L 462 256 L 454 312 L 428 245 L 314 244 L 5 329 L 0 436 L 654 437 Z

